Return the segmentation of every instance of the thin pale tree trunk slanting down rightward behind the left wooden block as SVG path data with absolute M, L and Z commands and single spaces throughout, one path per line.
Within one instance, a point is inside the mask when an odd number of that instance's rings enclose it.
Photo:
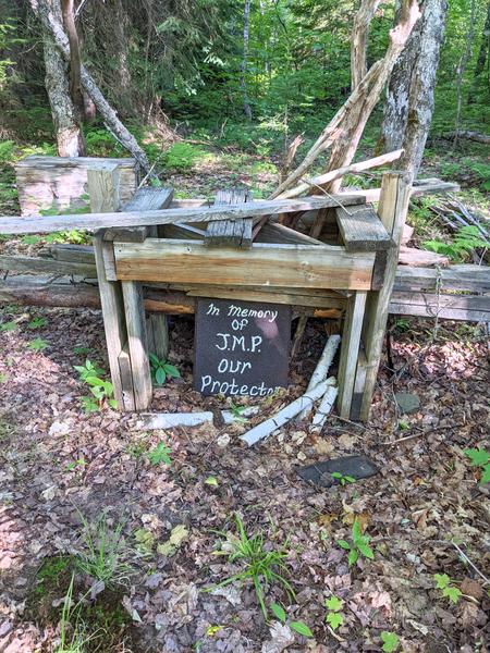
M 42 28 L 47 35 L 51 35 L 59 51 L 65 61 L 70 60 L 70 45 L 66 34 L 64 33 L 61 23 L 61 16 L 57 16 L 49 4 L 50 0 L 30 0 L 32 8 L 35 14 L 39 17 Z M 53 0 L 59 1 L 59 0 Z M 150 171 L 150 164 L 144 152 L 136 141 L 136 138 L 127 131 L 127 128 L 119 120 L 118 114 L 103 97 L 103 94 L 94 82 L 90 73 L 84 65 L 81 65 L 81 83 L 83 89 L 94 101 L 98 112 L 103 118 L 106 127 L 121 143 L 121 145 L 133 155 L 139 165 L 146 171 Z

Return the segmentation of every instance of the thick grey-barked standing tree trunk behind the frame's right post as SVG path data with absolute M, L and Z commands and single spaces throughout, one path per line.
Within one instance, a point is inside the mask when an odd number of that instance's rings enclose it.
M 444 36 L 446 0 L 424 0 L 422 15 L 391 74 L 382 124 L 383 149 L 405 151 L 396 169 L 413 172 L 424 155 Z

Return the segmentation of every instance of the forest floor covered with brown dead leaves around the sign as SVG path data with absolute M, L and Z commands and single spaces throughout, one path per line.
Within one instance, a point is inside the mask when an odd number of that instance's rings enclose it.
M 46 324 L 34 331 L 36 317 Z M 488 651 L 489 587 L 452 544 L 489 576 L 489 490 L 463 454 L 489 448 L 482 330 L 442 323 L 432 342 L 430 321 L 394 322 L 368 427 L 331 416 L 320 435 L 299 422 L 247 448 L 237 435 L 301 394 L 334 323 L 308 323 L 289 391 L 264 399 L 247 423 L 145 433 L 135 416 L 82 410 L 87 391 L 73 366 L 89 358 L 108 369 L 98 311 L 11 307 L 0 321 L 16 322 L 0 332 L 0 652 L 52 650 L 59 626 L 36 615 L 33 601 L 39 569 L 79 551 L 81 514 L 90 522 L 103 510 L 123 523 L 134 569 L 121 594 L 130 634 L 107 651 L 380 651 L 382 631 L 407 653 Z M 35 338 L 46 348 L 29 348 Z M 226 404 L 192 390 L 192 357 L 193 320 L 174 318 L 170 360 L 182 378 L 156 391 L 155 410 Z M 400 391 L 418 395 L 417 412 L 397 414 Z M 146 455 L 160 442 L 170 466 Z M 354 453 L 379 473 L 322 490 L 294 470 Z M 282 603 L 287 624 L 304 621 L 313 638 L 266 624 L 250 584 L 203 591 L 238 568 L 213 553 L 224 539 L 217 531 L 236 533 L 235 513 L 266 547 L 284 544 L 295 600 L 273 586 L 267 603 Z M 338 541 L 350 539 L 355 519 L 375 555 L 350 567 Z M 187 537 L 166 554 L 159 544 L 182 525 Z M 457 603 L 436 588 L 434 574 L 461 589 Z M 324 607 L 332 594 L 344 602 L 333 634 Z

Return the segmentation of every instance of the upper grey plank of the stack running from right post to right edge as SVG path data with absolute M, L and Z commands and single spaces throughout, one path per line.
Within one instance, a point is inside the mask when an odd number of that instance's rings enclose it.
M 444 269 L 408 268 L 399 266 L 394 283 L 395 291 L 477 291 L 490 292 L 490 267 L 462 263 Z

